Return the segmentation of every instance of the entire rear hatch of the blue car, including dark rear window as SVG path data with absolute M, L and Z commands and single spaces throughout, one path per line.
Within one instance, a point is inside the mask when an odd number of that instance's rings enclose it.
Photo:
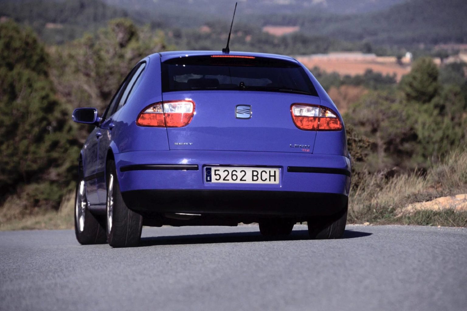
M 312 152 L 316 131 L 290 106 L 319 105 L 304 70 L 277 59 L 193 56 L 163 62 L 163 101 L 191 99 L 195 115 L 167 129 L 172 150 Z

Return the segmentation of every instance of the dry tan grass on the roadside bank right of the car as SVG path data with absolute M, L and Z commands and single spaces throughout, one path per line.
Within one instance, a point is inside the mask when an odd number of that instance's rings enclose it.
M 419 211 L 396 217 L 396 210 L 420 201 L 467 193 L 467 152 L 456 151 L 425 175 L 401 174 L 387 180 L 384 174 L 367 175 L 349 198 L 349 221 L 467 226 L 467 213 L 446 210 Z

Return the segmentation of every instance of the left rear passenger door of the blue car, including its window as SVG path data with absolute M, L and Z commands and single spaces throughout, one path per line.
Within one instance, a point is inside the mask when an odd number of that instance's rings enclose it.
M 146 66 L 145 62 L 138 63 L 128 74 L 118 94 L 115 96 L 115 101 L 109 106 L 105 119 L 100 125 L 100 138 L 98 139 L 98 155 L 97 166 L 98 172 L 105 172 L 106 170 L 106 157 L 107 150 L 109 149 L 112 141 L 112 130 L 116 126 L 115 117 L 120 113 L 120 109 L 127 103 L 128 98 L 131 96 L 132 91 L 136 89 L 139 77 Z M 106 176 L 104 173 L 99 174 L 97 178 L 97 192 L 100 204 L 105 204 L 107 189 L 106 189 Z

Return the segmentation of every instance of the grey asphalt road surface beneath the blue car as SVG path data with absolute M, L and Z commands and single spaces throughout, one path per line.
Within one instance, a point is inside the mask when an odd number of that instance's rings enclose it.
M 142 246 L 0 232 L 0 310 L 467 310 L 467 228 L 144 228 Z

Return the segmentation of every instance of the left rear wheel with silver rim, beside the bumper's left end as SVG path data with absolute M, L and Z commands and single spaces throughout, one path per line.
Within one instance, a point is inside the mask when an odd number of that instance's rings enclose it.
M 107 163 L 106 172 L 107 242 L 112 247 L 137 246 L 141 239 L 143 218 L 123 201 L 113 160 Z

